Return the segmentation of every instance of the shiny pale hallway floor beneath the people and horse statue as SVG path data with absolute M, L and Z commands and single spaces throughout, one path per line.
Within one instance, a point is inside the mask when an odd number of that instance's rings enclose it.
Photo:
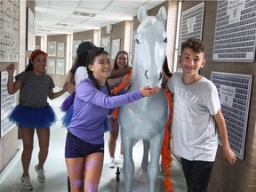
M 59 90 L 58 88 L 55 91 Z M 64 148 L 67 130 L 61 127 L 60 119 L 64 115 L 60 111 L 60 105 L 63 100 L 66 99 L 68 93 L 65 93 L 60 98 L 55 100 L 49 100 L 50 105 L 54 108 L 55 113 L 58 116 L 59 121 L 51 127 L 51 138 L 49 155 L 44 164 L 45 170 L 45 183 L 41 184 L 37 180 L 37 173 L 35 171 L 35 165 L 37 164 L 38 154 L 38 142 L 35 134 L 34 150 L 32 159 L 29 167 L 30 180 L 34 187 L 33 192 L 68 192 L 67 182 L 67 170 L 64 159 Z M 4 168 L 3 172 L 0 173 L 0 192 L 19 192 L 28 191 L 22 188 L 20 182 L 20 176 L 22 174 L 21 165 L 21 152 L 22 145 L 19 140 L 19 149 L 15 156 L 13 156 L 11 162 Z M 120 148 L 120 135 L 116 142 L 116 156 L 118 156 Z M 133 160 L 135 164 L 135 172 L 140 167 L 140 161 L 142 158 L 142 142 L 141 140 L 133 147 Z M 120 180 L 116 180 L 116 168 L 110 169 L 108 167 L 108 132 L 105 133 L 105 158 L 103 171 L 100 179 L 99 192 L 123 192 L 124 191 L 124 177 L 121 171 Z M 186 192 L 186 183 L 181 170 L 180 162 L 172 156 L 172 183 L 175 185 L 174 192 Z M 116 164 L 121 167 L 122 164 Z M 159 172 L 156 192 L 164 192 L 164 176 Z M 148 183 L 142 183 L 139 180 L 133 179 L 132 192 L 148 192 Z

